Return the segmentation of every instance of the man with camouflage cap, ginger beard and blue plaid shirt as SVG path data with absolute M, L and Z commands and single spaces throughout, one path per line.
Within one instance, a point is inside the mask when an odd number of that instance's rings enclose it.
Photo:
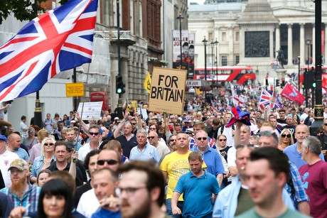
M 28 163 L 26 160 L 18 158 L 10 165 L 11 186 L 0 190 L 8 195 L 14 202 L 15 207 L 23 206 L 26 214 L 38 211 L 38 196 L 41 187 L 31 185 L 27 181 L 29 175 Z

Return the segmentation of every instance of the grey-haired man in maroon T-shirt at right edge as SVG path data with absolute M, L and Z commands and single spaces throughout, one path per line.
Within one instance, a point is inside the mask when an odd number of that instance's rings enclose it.
M 321 142 L 314 136 L 308 136 L 302 143 L 302 160 L 306 165 L 299 169 L 306 194 L 310 198 L 310 216 L 327 217 L 327 163 L 319 157 Z

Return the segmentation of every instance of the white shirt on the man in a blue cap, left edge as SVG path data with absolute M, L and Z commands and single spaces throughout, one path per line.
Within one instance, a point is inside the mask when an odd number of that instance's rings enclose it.
M 6 150 L 3 154 L 0 154 L 0 170 L 2 177 L 4 178 L 4 185 L 9 187 L 11 185 L 10 172 L 8 171 L 11 162 L 18 159 L 18 155 L 14 152 Z

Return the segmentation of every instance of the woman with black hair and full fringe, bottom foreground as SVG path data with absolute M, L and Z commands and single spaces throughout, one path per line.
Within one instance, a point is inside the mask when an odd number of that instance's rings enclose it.
M 43 185 L 38 199 L 38 217 L 74 217 L 72 198 L 66 182 L 59 179 L 49 180 Z

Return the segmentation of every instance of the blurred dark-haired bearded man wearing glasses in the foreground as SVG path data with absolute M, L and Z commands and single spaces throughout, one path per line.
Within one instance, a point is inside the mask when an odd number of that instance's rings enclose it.
M 149 162 L 134 161 L 119 168 L 121 213 L 123 218 L 166 217 L 164 205 L 165 180 L 161 171 Z

